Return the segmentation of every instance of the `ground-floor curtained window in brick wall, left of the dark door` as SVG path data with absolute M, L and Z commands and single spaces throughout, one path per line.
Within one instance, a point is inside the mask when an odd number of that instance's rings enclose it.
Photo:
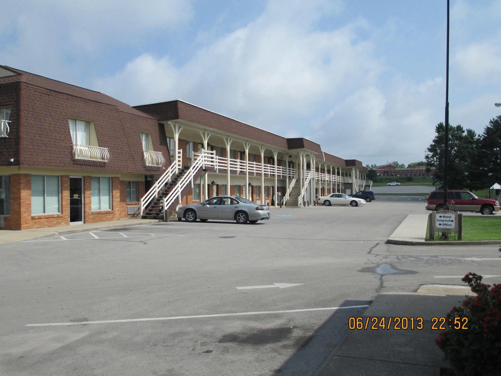
M 32 175 L 32 214 L 61 213 L 60 176 Z

